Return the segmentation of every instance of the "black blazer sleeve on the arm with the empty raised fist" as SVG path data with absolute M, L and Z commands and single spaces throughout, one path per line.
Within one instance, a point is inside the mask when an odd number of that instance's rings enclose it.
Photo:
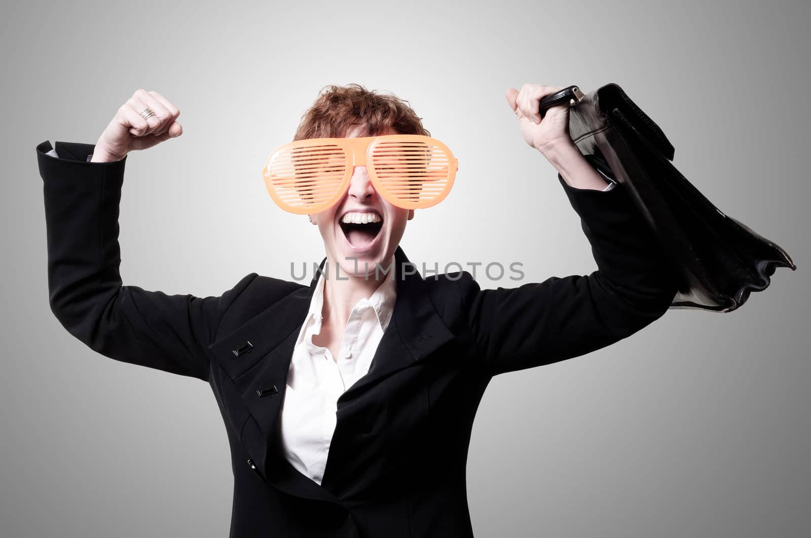
M 36 147 L 45 196 L 49 305 L 62 326 L 116 361 L 208 381 L 208 344 L 225 309 L 256 274 L 220 297 L 123 285 L 118 246 L 122 160 L 92 163 L 93 144 Z

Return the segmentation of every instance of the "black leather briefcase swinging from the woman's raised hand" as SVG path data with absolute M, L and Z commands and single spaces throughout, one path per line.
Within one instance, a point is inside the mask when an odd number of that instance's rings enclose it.
M 574 143 L 592 164 L 610 167 L 676 264 L 682 283 L 671 308 L 730 312 L 749 292 L 766 289 L 776 267 L 796 270 L 785 250 L 725 215 L 681 175 L 672 143 L 619 85 L 586 95 L 569 86 L 544 96 L 539 108 L 543 114 L 567 101 Z

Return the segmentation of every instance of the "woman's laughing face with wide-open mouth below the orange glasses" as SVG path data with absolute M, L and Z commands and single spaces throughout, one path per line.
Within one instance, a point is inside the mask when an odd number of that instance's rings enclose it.
M 346 138 L 357 138 L 362 133 L 363 126 L 355 126 Z M 383 134 L 398 133 L 389 129 Z M 341 278 L 374 278 L 378 264 L 388 268 L 405 232 L 405 223 L 413 218 L 413 209 L 393 206 L 377 193 L 365 166 L 354 167 L 350 188 L 338 203 L 311 215 L 324 239 L 329 274 L 335 274 L 337 264 Z

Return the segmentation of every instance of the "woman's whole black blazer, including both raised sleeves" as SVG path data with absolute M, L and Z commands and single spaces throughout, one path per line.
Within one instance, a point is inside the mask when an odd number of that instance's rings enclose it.
M 603 348 L 659 318 L 676 294 L 667 257 L 620 182 L 607 192 L 558 179 L 599 270 L 480 289 L 467 271 L 401 271 L 367 375 L 337 401 L 324 480 L 279 450 L 285 379 L 312 292 L 251 273 L 221 297 L 122 285 L 123 160 L 86 162 L 92 144 L 36 147 L 44 181 L 49 303 L 94 351 L 212 387 L 231 448 L 230 536 L 473 536 L 466 460 L 478 404 L 496 374 Z M 540 248 L 534 230 L 527 248 Z M 322 262 L 323 265 L 323 262 Z

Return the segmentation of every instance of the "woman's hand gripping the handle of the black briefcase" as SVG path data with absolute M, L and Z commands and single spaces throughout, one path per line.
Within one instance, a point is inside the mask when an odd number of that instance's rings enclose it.
M 518 118 L 526 143 L 545 156 L 561 146 L 573 145 L 569 134 L 569 105 L 556 105 L 547 109 L 543 120 L 538 112 L 541 98 L 562 90 L 562 86 L 524 84 L 521 92 L 509 88 L 504 96 Z

